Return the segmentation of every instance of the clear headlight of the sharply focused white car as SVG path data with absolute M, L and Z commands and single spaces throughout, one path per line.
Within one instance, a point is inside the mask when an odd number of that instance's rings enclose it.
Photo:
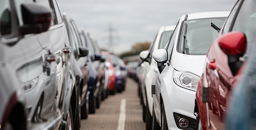
M 173 70 L 173 81 L 178 86 L 186 88 L 188 90 L 196 91 L 197 84 L 199 81 L 199 76 L 187 71 L 176 71 Z

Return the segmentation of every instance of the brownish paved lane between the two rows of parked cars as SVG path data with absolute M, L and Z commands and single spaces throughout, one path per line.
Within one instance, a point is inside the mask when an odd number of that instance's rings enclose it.
M 81 120 L 80 130 L 145 130 L 137 90 L 138 83 L 127 78 L 125 90 L 102 101 L 95 114 Z

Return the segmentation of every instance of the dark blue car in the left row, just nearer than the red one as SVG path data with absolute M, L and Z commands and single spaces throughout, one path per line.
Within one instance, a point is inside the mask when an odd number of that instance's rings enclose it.
M 89 48 L 89 54 L 87 57 L 88 60 L 88 68 L 90 73 L 89 78 L 89 113 L 95 113 L 96 108 L 100 108 L 101 104 L 101 90 L 104 85 L 104 65 L 102 66 L 102 62 L 104 60 L 101 58 L 101 52 L 99 51 L 97 43 L 94 42 L 91 35 L 85 31 L 85 29 L 81 29 L 80 36 L 82 40 L 82 45 L 84 47 Z

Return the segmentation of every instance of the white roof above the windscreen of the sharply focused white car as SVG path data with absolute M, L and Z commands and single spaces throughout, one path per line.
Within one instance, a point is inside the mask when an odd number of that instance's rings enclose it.
M 212 11 L 212 12 L 198 12 L 187 15 L 187 20 L 200 19 L 200 18 L 212 18 L 212 17 L 227 17 L 230 11 Z M 181 16 L 181 20 L 184 20 L 186 15 Z

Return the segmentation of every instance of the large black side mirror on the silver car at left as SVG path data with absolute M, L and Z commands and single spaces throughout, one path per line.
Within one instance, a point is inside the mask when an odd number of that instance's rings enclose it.
M 43 5 L 26 3 L 21 5 L 24 25 L 20 27 L 21 35 L 47 31 L 52 21 L 52 10 Z

